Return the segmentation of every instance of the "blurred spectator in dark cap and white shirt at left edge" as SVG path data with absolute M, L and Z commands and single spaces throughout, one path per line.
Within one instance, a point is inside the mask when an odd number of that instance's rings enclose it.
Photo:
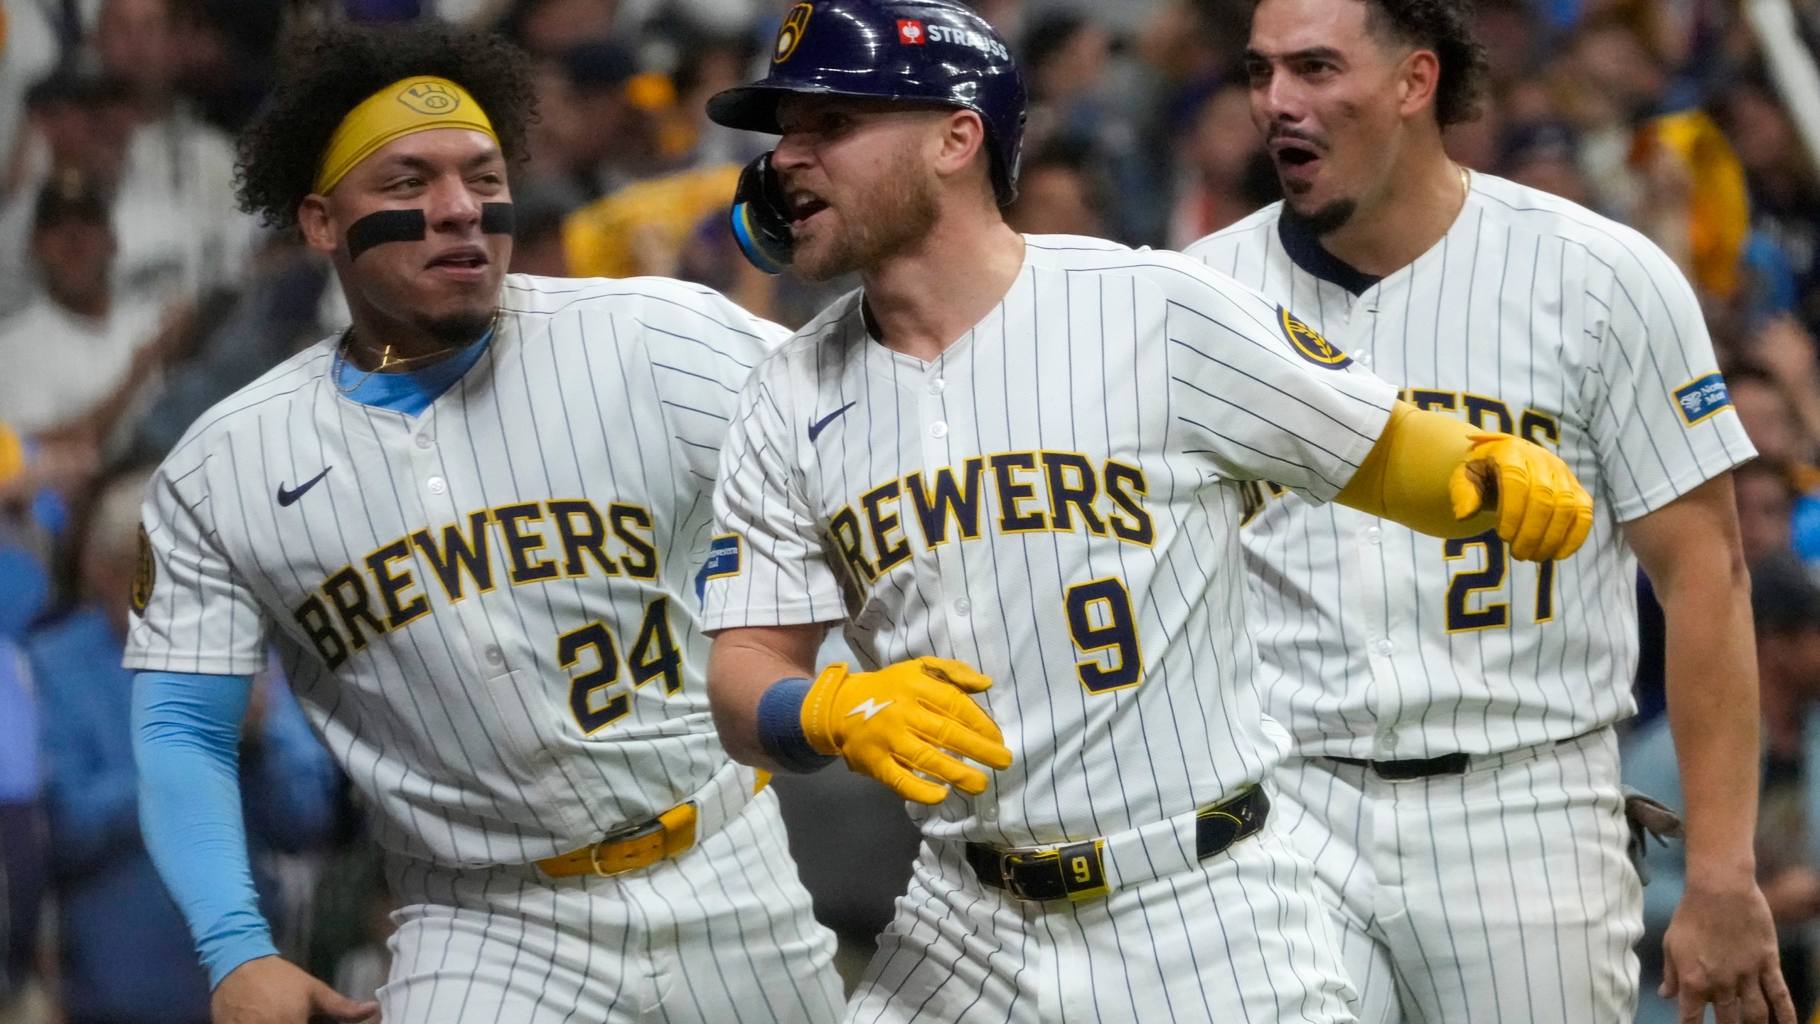
M 0 419 L 102 445 L 187 337 L 187 313 L 113 295 L 107 204 L 76 173 L 40 193 L 31 255 L 46 290 L 0 323 Z

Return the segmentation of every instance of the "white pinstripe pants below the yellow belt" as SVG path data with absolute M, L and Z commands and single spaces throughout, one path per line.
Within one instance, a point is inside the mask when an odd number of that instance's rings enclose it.
M 761 793 L 673 860 L 599 878 L 388 858 L 386 1024 L 826 1024 L 834 933 L 815 924 Z

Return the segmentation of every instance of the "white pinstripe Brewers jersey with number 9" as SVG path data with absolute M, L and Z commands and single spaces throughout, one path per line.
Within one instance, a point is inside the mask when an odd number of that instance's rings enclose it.
M 1016 762 L 914 813 L 997 844 L 1192 811 L 1281 758 L 1252 687 L 1238 481 L 1330 499 L 1394 399 L 1316 364 L 1225 275 L 1028 237 L 999 306 L 935 361 L 870 339 L 855 292 L 746 386 L 721 456 L 708 629 L 846 620 L 868 665 L 992 676 Z M 737 538 L 737 539 L 735 539 Z

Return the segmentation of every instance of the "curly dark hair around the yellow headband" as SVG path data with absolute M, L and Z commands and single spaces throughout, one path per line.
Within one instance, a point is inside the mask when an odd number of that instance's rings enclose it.
M 278 82 L 240 133 L 240 208 L 273 228 L 293 226 L 348 111 L 413 75 L 460 84 L 493 122 L 506 160 L 524 157 L 535 93 L 530 60 L 517 46 L 426 24 L 306 27 L 280 42 Z

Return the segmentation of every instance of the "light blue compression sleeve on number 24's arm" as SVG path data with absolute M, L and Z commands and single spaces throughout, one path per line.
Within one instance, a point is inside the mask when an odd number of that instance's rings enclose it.
M 258 913 L 240 818 L 240 720 L 251 691 L 248 676 L 133 678 L 138 827 L 189 922 L 209 988 L 278 953 Z

